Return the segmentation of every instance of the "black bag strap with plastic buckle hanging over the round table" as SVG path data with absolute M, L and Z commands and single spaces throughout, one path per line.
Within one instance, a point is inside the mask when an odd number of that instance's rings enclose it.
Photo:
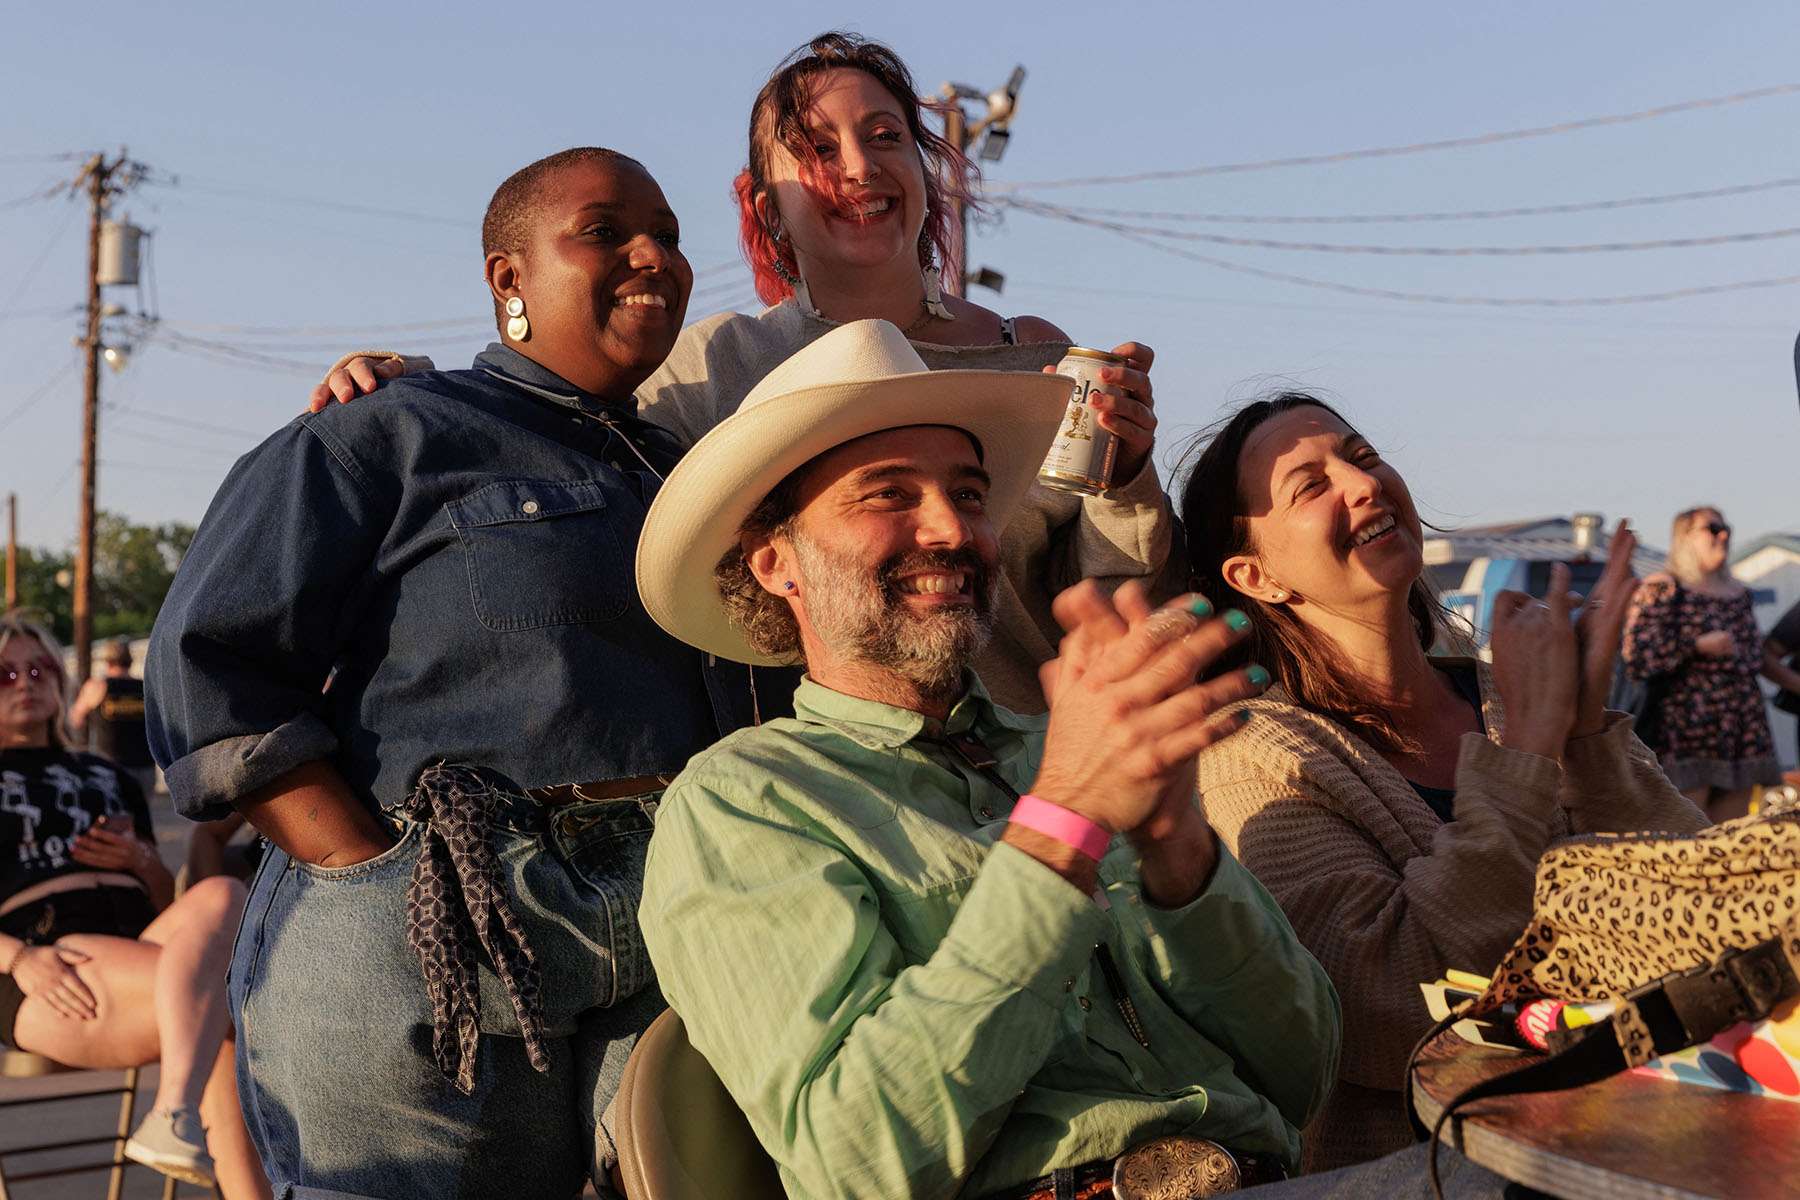
M 1787 997 L 1800 993 L 1800 919 L 1789 934 L 1759 941 L 1742 950 L 1728 950 L 1717 961 L 1634 988 L 1613 1015 L 1586 1029 L 1557 1029 L 1546 1036 L 1550 1056 L 1519 1070 L 1465 1087 L 1444 1105 L 1429 1133 L 1413 1099 L 1418 1054 L 1462 1013 L 1436 1022 L 1413 1047 L 1406 1063 L 1406 1115 L 1415 1135 L 1429 1135 L 1426 1151 L 1431 1195 L 1442 1200 L 1438 1184 L 1438 1135 L 1458 1108 L 1492 1096 L 1519 1092 L 1562 1092 L 1598 1083 L 1625 1067 L 1642 1067 L 1652 1058 L 1685 1051 L 1746 1020 L 1762 1020 Z

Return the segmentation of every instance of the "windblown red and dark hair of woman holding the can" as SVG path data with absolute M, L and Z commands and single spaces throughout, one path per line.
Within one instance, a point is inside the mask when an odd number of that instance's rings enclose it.
M 788 273 L 799 273 L 792 243 L 778 243 L 770 227 L 756 212 L 756 200 L 769 193 L 769 162 L 776 144 L 787 148 L 801 164 L 801 184 L 823 207 L 837 207 L 841 198 L 819 169 L 819 151 L 806 135 L 806 110 L 812 108 L 817 79 L 830 70 L 848 67 L 880 83 L 900 103 L 913 144 L 918 146 L 925 167 L 925 227 L 920 234 L 920 266 L 929 264 L 931 248 L 949 261 L 954 248 L 954 221 L 950 198 L 968 203 L 979 171 L 968 157 L 925 128 L 925 104 L 913 85 L 913 72 L 900 56 L 880 41 L 850 32 L 824 32 L 794 50 L 751 104 L 749 166 L 738 173 L 733 191 L 738 198 L 738 241 L 743 257 L 756 277 L 756 295 L 763 304 L 779 304 L 794 295 L 776 263 Z

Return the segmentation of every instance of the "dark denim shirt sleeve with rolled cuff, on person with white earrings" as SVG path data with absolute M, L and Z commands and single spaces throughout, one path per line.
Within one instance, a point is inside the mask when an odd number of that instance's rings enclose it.
M 367 594 L 392 488 L 311 417 L 225 477 L 144 662 L 151 750 L 184 815 L 223 817 L 337 750 L 322 689 Z

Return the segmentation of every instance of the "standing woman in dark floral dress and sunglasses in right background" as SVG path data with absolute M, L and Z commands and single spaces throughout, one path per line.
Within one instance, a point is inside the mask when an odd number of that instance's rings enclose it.
M 1667 570 L 1633 599 L 1624 646 L 1625 671 L 1651 689 L 1645 741 L 1714 822 L 1750 811 L 1755 784 L 1782 781 L 1757 685 L 1762 633 L 1730 556 L 1732 527 L 1719 509 L 1678 513 Z

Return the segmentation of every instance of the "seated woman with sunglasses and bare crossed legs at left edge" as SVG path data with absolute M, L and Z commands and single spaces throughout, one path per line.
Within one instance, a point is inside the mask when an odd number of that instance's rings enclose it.
M 162 1063 L 126 1153 L 227 1196 L 266 1196 L 238 1108 L 225 963 L 243 885 L 171 903 L 137 783 L 68 750 L 61 651 L 0 617 L 0 1045 L 68 1067 Z M 216 1171 L 214 1171 L 216 1162 Z

